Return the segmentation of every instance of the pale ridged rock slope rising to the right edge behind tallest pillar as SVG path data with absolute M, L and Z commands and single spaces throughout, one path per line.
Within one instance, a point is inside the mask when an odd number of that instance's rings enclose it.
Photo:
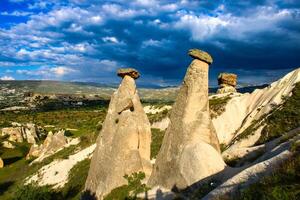
M 272 106 L 281 104 L 282 97 L 290 95 L 295 83 L 299 81 L 300 68 L 264 89 L 256 89 L 251 94 L 236 93 L 226 104 L 225 112 L 213 119 L 220 143 L 229 144 L 253 120 L 259 120 L 272 110 Z

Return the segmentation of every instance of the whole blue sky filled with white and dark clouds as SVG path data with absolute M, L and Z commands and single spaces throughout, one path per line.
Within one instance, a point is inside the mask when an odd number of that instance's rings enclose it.
M 300 1 L 1 0 L 0 78 L 176 85 L 190 48 L 209 52 L 240 83 L 276 80 L 300 66 Z

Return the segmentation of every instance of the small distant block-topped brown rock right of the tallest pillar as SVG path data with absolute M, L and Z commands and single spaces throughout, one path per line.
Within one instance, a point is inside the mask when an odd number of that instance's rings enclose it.
M 219 89 L 218 94 L 236 92 L 237 75 L 230 73 L 221 73 L 218 77 Z

